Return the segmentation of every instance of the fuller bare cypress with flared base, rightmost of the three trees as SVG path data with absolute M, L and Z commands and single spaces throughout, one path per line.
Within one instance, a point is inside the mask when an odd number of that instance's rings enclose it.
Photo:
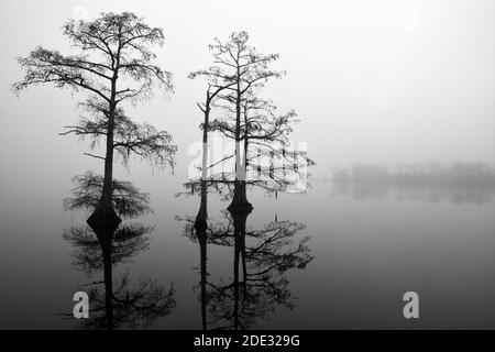
M 222 89 L 210 103 L 218 108 L 217 116 L 220 118 L 209 122 L 208 130 L 218 131 L 235 141 L 234 154 L 224 156 L 222 161 L 235 157 L 234 188 L 238 191 L 233 193 L 230 208 L 240 211 L 251 208 L 245 194 L 248 184 L 275 193 L 285 190 L 295 184 L 295 179 L 304 183 L 307 166 L 315 164 L 307 157 L 306 151 L 290 151 L 287 144 L 288 135 L 298 122 L 296 112 L 290 110 L 279 114 L 272 101 L 260 97 L 261 89 L 270 78 L 278 78 L 284 74 L 268 68 L 278 55 L 260 54 L 248 45 L 248 40 L 245 32 L 231 34 L 227 43 L 216 40 L 210 46 L 213 66 L 193 74 L 193 77 L 207 77 L 210 88 Z M 202 110 L 209 114 L 211 108 L 208 106 L 208 109 Z M 208 117 L 205 123 L 210 120 Z M 204 173 L 205 163 L 204 158 Z M 248 179 L 249 169 L 257 172 L 261 177 Z M 223 175 L 221 182 L 226 182 Z

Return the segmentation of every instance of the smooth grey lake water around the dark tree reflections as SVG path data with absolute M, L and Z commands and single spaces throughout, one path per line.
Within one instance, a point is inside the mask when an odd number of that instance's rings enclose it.
M 309 237 L 306 254 L 312 261 L 300 268 L 268 271 L 268 286 L 254 293 L 252 301 L 240 302 L 239 309 L 248 311 L 240 318 L 245 328 L 495 328 L 492 194 L 336 187 L 322 180 L 311 185 L 304 195 L 276 198 L 249 191 L 254 210 L 246 219 L 248 232 L 289 228 L 294 238 L 280 251 L 297 249 Z M 113 278 L 127 275 L 124 295 L 146 279 L 165 292 L 173 287 L 174 304 L 150 319 L 150 328 L 201 329 L 201 312 L 207 328 L 229 327 L 234 250 L 207 245 L 210 299 L 202 311 L 200 249 L 187 229 L 199 195 L 175 197 L 179 191 L 184 188 L 177 183 L 164 195 L 151 195 L 154 212 L 135 221 L 153 230 L 139 243 L 142 251 L 116 263 Z M 62 202 L 65 196 L 53 199 Z M 208 195 L 211 223 L 229 223 L 222 215 L 228 205 L 215 193 Z M 73 295 L 101 282 L 103 273 L 80 271 L 77 249 L 63 233 L 84 229 L 86 215 L 64 212 L 62 206 L 26 209 L 22 217 L 3 212 L 1 218 L 0 328 L 80 328 L 80 321 L 66 316 Z M 227 289 L 216 295 L 219 287 Z M 409 290 L 419 294 L 418 320 L 403 317 L 403 295 Z M 138 318 L 143 317 L 130 319 Z

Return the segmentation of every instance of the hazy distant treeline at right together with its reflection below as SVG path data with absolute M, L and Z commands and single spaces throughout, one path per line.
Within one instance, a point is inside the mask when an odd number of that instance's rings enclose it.
M 393 197 L 487 204 L 495 199 L 495 167 L 486 163 L 354 164 L 333 168 L 333 190 L 353 199 Z

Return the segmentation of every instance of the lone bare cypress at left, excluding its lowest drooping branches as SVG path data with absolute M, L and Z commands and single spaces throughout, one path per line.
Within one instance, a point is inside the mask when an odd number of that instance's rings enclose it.
M 57 88 L 89 94 L 84 103 L 91 119 L 84 118 L 67 133 L 91 136 L 92 146 L 106 139 L 105 180 L 97 212 L 103 217 L 117 217 L 112 207 L 113 152 L 124 156 L 131 153 L 157 164 L 173 163 L 176 147 L 166 132 L 140 125 L 123 112 L 123 102 L 136 103 L 152 96 L 156 85 L 170 90 L 172 75 L 154 64 L 154 45 L 162 46 L 163 30 L 151 28 L 134 13 L 101 13 L 91 21 L 68 21 L 63 28 L 78 51 L 63 55 L 58 51 L 36 47 L 29 56 L 18 58 L 25 70 L 22 81 L 13 85 L 19 94 L 29 86 L 52 84 Z M 116 142 L 116 136 L 118 141 Z

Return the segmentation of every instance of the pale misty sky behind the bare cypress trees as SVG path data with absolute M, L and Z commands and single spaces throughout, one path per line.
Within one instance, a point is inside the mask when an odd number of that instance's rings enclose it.
M 124 10 L 165 31 L 158 63 L 174 74 L 175 94 L 158 94 L 130 114 L 174 135 L 177 175 L 185 175 L 194 158 L 188 146 L 200 139 L 196 101 L 205 85 L 187 75 L 210 65 L 213 37 L 241 30 L 261 52 L 280 54 L 274 67 L 287 76 L 268 84 L 263 97 L 280 112 L 298 112 L 292 140 L 308 142 L 318 169 L 495 162 L 494 1 L 2 0 L 2 180 L 12 173 L 102 172 L 100 161 L 82 155 L 85 142 L 57 136 L 77 120 L 76 103 L 86 94 L 34 87 L 18 99 L 10 86 L 22 78 L 15 56 L 36 45 L 67 52 L 61 33 L 67 19 Z

